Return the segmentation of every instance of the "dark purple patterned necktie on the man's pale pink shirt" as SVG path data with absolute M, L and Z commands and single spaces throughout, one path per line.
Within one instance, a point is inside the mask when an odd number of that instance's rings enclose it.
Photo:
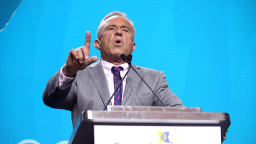
M 112 67 L 111 69 L 112 73 L 114 74 L 114 87 L 116 89 L 117 85 L 119 85 L 121 81 L 121 75 L 120 71 L 123 71 L 123 67 Z M 121 83 L 119 89 L 117 89 L 117 92 L 115 93 L 114 97 L 114 105 L 115 106 L 121 106 L 122 102 L 122 93 L 123 93 L 123 83 Z

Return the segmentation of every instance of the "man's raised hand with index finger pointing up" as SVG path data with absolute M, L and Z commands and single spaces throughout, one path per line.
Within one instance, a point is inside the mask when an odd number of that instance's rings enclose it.
M 90 57 L 90 42 L 91 42 L 91 33 L 86 32 L 86 41 L 84 46 L 81 46 L 76 49 L 71 49 L 69 51 L 69 56 L 67 61 L 63 66 L 62 72 L 63 75 L 67 77 L 74 77 L 77 71 L 85 69 L 91 63 L 97 61 L 98 57 Z

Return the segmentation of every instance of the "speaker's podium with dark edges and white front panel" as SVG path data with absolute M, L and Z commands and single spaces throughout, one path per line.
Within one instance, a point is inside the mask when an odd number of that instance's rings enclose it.
M 220 144 L 229 126 L 227 113 L 201 108 L 108 106 L 82 112 L 69 144 Z

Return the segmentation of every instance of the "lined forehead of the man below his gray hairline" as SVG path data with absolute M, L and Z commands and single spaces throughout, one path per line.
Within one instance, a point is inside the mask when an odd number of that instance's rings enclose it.
M 109 26 L 109 25 L 116 25 L 116 26 L 128 26 L 128 27 L 132 28 L 129 21 L 126 20 L 125 17 L 119 16 L 119 15 L 109 17 L 107 20 L 105 20 L 103 25 L 104 25 L 104 27 Z

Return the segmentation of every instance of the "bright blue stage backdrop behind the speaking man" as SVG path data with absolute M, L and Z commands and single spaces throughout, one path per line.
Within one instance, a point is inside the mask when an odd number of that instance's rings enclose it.
M 224 143 L 255 143 L 255 9 L 255 0 L 22 1 L 0 32 L 0 143 L 67 143 L 71 112 L 44 106 L 42 92 L 115 10 L 135 24 L 134 64 L 164 71 L 185 106 L 228 112 Z

